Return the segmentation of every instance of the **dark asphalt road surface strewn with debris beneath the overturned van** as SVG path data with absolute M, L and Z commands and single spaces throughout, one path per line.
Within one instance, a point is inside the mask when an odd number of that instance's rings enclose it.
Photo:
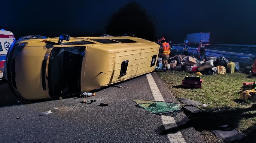
M 27 102 L 15 97 L 6 82 L 0 90 L 0 142 L 203 142 L 193 127 L 177 127 L 188 121 L 184 113 L 175 118 L 136 107 L 133 99 L 177 103 L 155 72 L 99 90 L 87 98 L 96 100 L 91 104 L 80 103 L 85 98 L 79 96 Z M 99 106 L 102 102 L 108 106 Z

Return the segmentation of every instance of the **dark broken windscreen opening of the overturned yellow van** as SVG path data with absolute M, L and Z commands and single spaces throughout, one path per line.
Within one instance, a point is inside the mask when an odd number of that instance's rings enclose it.
M 51 98 L 81 93 L 81 66 L 85 47 L 54 47 L 48 66 L 48 88 Z

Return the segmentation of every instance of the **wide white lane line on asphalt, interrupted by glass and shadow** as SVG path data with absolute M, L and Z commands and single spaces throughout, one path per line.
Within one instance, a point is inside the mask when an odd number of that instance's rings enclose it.
M 151 73 L 147 74 L 146 76 L 147 76 L 148 83 L 149 83 L 150 89 L 152 91 L 152 94 L 154 96 L 154 99 L 156 101 L 164 101 L 163 96 L 160 93 L 160 90 L 158 89 L 157 84 L 154 81 Z M 161 116 L 161 119 L 163 121 L 165 130 L 172 128 L 172 127 L 177 127 L 177 124 L 173 117 Z M 168 133 L 167 136 L 168 136 L 170 143 L 186 143 L 180 131 L 178 131 L 176 133 Z

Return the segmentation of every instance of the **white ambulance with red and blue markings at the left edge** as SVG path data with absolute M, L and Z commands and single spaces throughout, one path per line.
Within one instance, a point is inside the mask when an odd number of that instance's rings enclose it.
M 16 40 L 12 32 L 5 31 L 4 29 L 0 30 L 0 79 L 4 75 L 6 54 L 14 41 Z

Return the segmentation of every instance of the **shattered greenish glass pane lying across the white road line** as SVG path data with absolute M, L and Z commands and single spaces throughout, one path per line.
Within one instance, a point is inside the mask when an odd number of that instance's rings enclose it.
M 158 114 L 165 116 L 176 117 L 178 113 L 183 112 L 179 109 L 180 104 L 162 101 L 149 101 L 149 100 L 132 100 L 137 103 L 137 107 L 146 110 L 146 113 Z

